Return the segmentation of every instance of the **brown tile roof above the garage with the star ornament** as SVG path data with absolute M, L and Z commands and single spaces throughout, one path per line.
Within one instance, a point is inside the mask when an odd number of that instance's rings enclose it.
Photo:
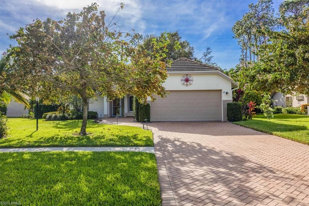
M 167 71 L 206 71 L 219 70 L 217 67 L 211 67 L 201 62 L 193 61 L 188 58 L 178 58 L 171 63 L 171 67 L 166 67 Z M 220 71 L 220 70 L 219 70 Z

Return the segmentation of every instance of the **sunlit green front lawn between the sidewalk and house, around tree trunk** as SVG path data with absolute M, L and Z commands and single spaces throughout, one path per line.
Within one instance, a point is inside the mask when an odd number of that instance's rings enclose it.
M 153 146 L 152 132 L 138 127 L 87 123 L 86 136 L 79 136 L 82 121 L 45 121 L 9 118 L 9 135 L 0 139 L 0 148 Z

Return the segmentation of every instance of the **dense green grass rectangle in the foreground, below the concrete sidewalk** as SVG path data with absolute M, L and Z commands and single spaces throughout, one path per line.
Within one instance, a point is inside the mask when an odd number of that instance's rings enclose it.
M 0 200 L 21 205 L 160 205 L 146 152 L 0 153 Z

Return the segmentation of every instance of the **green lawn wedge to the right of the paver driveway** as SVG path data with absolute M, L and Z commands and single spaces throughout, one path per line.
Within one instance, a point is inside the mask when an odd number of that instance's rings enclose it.
M 274 118 L 268 120 L 263 114 L 258 114 L 251 120 L 233 123 L 309 145 L 308 116 L 300 114 L 274 114 Z

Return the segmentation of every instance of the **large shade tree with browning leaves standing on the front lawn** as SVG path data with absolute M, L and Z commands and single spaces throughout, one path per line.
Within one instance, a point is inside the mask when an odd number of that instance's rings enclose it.
M 106 23 L 105 13 L 98 11 L 96 3 L 80 13 L 68 13 L 60 21 L 37 19 L 11 36 L 18 42 L 11 48 L 11 66 L 36 74 L 29 91 L 45 102 L 72 94 L 81 97 L 79 134 L 85 135 L 89 99 L 96 95 L 113 99 L 130 93 L 146 101 L 153 94 L 166 94 L 162 86 L 167 78 L 166 62 L 162 60 L 167 36 L 151 39 L 152 50 L 145 51 L 134 46 L 137 35 L 121 28 L 112 21 Z

